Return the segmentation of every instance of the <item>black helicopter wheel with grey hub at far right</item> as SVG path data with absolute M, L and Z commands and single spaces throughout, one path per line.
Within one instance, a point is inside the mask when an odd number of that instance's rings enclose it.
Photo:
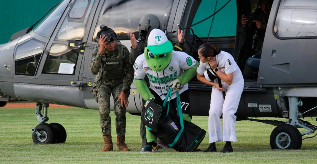
M 301 144 L 301 133 L 290 124 L 277 126 L 270 136 L 272 149 L 300 149 Z

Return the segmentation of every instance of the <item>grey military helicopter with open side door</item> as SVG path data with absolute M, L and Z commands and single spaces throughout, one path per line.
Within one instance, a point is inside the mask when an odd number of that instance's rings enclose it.
M 32 129 L 33 142 L 65 142 L 63 126 L 46 123 L 49 104 L 98 109 L 91 92 L 95 76 L 89 65 L 100 25 L 113 28 L 117 40 L 129 48 L 129 33 L 138 36 L 140 18 L 154 14 L 164 30 L 184 29 L 185 52 L 195 59 L 197 48 L 209 42 L 232 54 L 239 66 L 249 65 L 257 78 L 245 79 L 237 120 L 273 124 L 277 127 L 270 136 L 271 148 L 300 149 L 302 136 L 317 129 L 301 120 L 317 116 L 317 75 L 308 72 L 317 68 L 313 62 L 317 2 L 274 0 L 262 55 L 247 54 L 250 57 L 241 61 L 246 55 L 241 51 L 241 16 L 258 6 L 256 0 L 63 0 L 35 28 L 20 31 L 0 45 L 0 106 L 10 101 L 37 102 L 40 124 Z M 189 88 L 191 114 L 208 116 L 211 87 L 194 78 Z M 127 112 L 140 114 L 142 100 L 134 83 L 129 102 Z M 300 133 L 297 128 L 307 131 Z

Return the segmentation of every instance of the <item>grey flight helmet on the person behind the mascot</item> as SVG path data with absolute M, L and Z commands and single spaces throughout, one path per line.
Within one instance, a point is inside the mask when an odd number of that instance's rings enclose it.
M 142 16 L 139 23 L 139 35 L 146 36 L 153 28 L 162 29 L 162 24 L 159 22 L 159 18 L 153 14 L 147 14 Z

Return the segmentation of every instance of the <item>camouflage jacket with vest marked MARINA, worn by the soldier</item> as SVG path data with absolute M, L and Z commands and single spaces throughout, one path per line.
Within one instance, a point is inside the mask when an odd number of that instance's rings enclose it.
M 96 75 L 94 80 L 94 88 L 100 86 L 107 79 L 122 79 L 122 90 L 130 90 L 130 85 L 133 82 L 133 66 L 129 63 L 129 50 L 120 42 L 117 43 L 117 48 L 114 52 L 109 52 L 104 49 L 102 54 L 99 54 L 99 45 L 94 49 L 90 72 Z

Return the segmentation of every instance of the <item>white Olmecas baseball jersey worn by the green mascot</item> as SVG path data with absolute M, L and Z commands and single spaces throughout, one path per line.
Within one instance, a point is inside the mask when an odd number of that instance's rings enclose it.
M 147 64 L 144 54 L 138 56 L 134 63 L 134 79 L 143 80 L 145 76 L 149 78 L 150 88 L 155 91 L 162 100 L 170 89 L 170 82 L 177 79 L 196 64 L 196 60 L 188 54 L 180 51 L 172 51 L 172 58 L 169 65 L 160 72 L 153 71 Z M 188 84 L 183 85 L 179 94 L 188 89 Z M 171 98 L 176 98 L 176 91 L 172 91 Z

